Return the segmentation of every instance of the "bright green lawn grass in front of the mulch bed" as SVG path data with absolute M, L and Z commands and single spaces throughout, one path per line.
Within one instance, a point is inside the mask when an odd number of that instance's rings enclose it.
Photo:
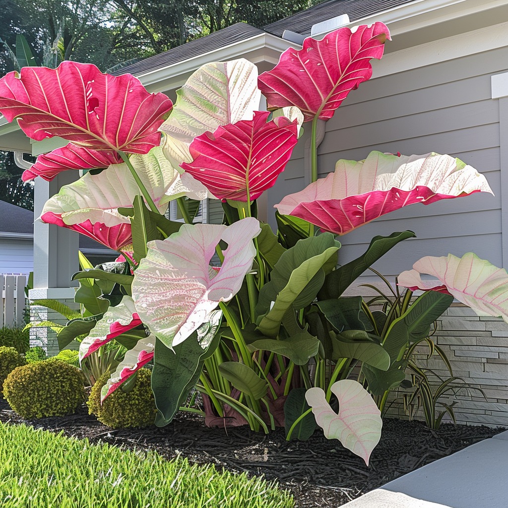
M 286 508 L 261 478 L 0 422 L 2 508 Z

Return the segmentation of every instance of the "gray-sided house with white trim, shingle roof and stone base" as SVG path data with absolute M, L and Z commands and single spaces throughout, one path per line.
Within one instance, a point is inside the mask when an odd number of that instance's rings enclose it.
M 359 256 L 374 235 L 411 229 L 417 238 L 399 244 L 375 266 L 388 278 L 422 256 L 448 252 L 461 256 L 473 251 L 508 267 L 508 214 L 502 213 L 508 206 L 506 20 L 504 0 L 328 0 L 263 30 L 238 23 L 118 73 L 130 72 L 149 91 L 163 91 L 175 99 L 176 89 L 203 63 L 244 57 L 263 72 L 275 65 L 283 50 L 298 47 L 303 36 L 320 37 L 340 25 L 383 21 L 393 41 L 387 42 L 383 59 L 372 62 L 372 78 L 353 91 L 324 125 L 319 174 L 333 171 L 340 158 L 362 160 L 374 149 L 404 154 L 436 151 L 458 156 L 485 174 L 496 196 L 477 194 L 386 215 L 340 239 L 340 262 Z M 50 141 L 40 143 L 30 147 L 15 126 L 0 123 L 0 147 L 50 148 Z M 36 208 L 66 178 L 64 173 L 50 184 L 38 181 Z M 302 143 L 259 203 L 261 218 L 272 221 L 272 206 L 308 181 L 308 155 Z M 219 219 L 217 202 L 211 201 L 207 210 L 208 220 Z M 65 231 L 42 234 L 60 235 L 48 248 L 75 242 Z M 55 257 L 59 251 L 56 248 Z M 41 268 L 46 270 L 38 285 L 41 291 L 63 288 L 62 281 L 71 272 L 71 267 L 60 265 L 56 273 L 52 262 L 49 255 Z M 482 388 L 487 397 L 474 392 L 460 395 L 455 407 L 458 421 L 508 425 L 508 326 L 452 306 L 438 323 L 435 337 L 451 358 L 455 375 Z M 446 374 L 442 365 L 429 365 Z

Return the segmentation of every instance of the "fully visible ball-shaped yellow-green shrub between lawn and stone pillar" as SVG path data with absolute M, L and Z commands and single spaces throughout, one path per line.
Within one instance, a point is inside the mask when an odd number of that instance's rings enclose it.
M 58 360 L 17 367 L 4 382 L 4 395 L 26 419 L 72 415 L 86 400 L 81 371 Z

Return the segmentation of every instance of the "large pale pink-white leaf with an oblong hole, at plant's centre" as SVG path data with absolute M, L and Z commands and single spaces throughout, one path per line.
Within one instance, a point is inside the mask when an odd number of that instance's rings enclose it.
M 252 240 L 260 232 L 259 221 L 247 217 L 231 226 L 184 224 L 166 240 L 148 242 L 132 293 L 150 332 L 172 347 L 197 330 L 219 302 L 231 300 L 252 268 Z M 228 248 L 216 272 L 209 265 L 220 240 Z

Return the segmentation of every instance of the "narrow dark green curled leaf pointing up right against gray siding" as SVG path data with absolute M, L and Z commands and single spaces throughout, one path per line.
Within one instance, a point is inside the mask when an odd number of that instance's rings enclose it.
M 319 299 L 338 298 L 365 270 L 382 258 L 397 243 L 406 238 L 415 237 L 416 235 L 412 231 L 392 233 L 390 236 L 375 236 L 362 256 L 326 276 Z

